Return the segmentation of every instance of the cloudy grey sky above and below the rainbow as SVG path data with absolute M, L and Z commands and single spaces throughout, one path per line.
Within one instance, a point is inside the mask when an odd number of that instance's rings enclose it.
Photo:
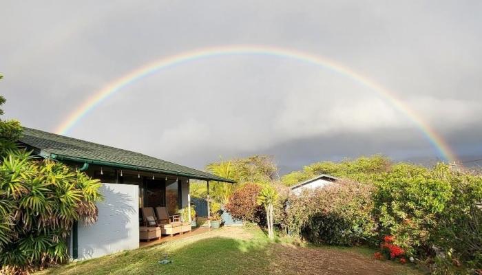
M 482 1 L 4 1 L 0 94 L 6 118 L 55 131 L 96 91 L 147 63 L 269 45 L 363 74 L 472 159 L 482 155 L 480 14 Z M 441 157 L 404 113 L 352 78 L 260 55 L 161 70 L 68 135 L 196 168 L 252 153 L 275 155 L 282 172 L 373 153 Z

